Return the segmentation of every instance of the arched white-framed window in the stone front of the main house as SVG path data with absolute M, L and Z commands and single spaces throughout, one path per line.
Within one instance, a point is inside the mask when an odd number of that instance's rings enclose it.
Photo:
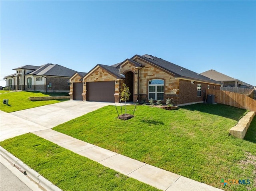
M 148 99 L 164 100 L 164 80 L 154 79 L 148 81 Z

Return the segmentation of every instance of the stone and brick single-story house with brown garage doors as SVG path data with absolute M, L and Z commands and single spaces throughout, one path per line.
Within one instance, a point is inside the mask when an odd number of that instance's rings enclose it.
M 175 104 L 204 102 L 206 89 L 220 89 L 221 83 L 152 55 L 134 55 L 121 63 L 96 65 L 81 79 L 70 79 L 70 99 L 75 100 L 75 83 L 81 81 L 82 100 L 119 102 L 122 84 L 130 89 L 130 101 L 174 98 Z M 75 95 L 75 96 L 74 96 Z M 81 98 L 80 98 L 81 99 Z

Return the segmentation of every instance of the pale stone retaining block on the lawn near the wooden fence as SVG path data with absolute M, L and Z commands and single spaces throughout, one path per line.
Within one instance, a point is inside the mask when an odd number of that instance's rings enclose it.
M 236 138 L 243 139 L 250 126 L 250 123 L 252 122 L 254 115 L 254 111 L 249 111 L 245 116 L 242 117 L 242 119 L 238 121 L 238 123 L 234 127 L 229 130 L 229 133 Z

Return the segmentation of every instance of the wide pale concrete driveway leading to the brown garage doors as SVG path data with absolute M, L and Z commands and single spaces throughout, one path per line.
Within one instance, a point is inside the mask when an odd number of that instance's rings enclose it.
M 69 100 L 11 113 L 0 111 L 0 141 L 28 132 L 53 128 L 106 105 L 114 103 Z

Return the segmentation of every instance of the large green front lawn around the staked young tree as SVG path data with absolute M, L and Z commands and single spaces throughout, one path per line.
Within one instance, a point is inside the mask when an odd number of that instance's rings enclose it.
M 132 114 L 134 106 L 127 108 Z M 170 111 L 137 106 L 125 121 L 106 106 L 53 129 L 220 189 L 245 191 L 256 187 L 256 118 L 244 140 L 229 135 L 244 114 L 222 104 Z M 249 179 L 250 185 L 224 187 L 221 179 Z

